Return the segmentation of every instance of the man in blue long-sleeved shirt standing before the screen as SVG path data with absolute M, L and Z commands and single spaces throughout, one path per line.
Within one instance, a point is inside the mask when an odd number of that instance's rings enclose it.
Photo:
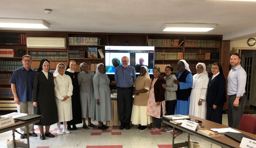
M 128 65 L 129 58 L 124 56 L 121 60 L 122 65 L 116 67 L 115 81 L 117 86 L 117 109 L 119 121 L 121 122 L 120 130 L 130 129 L 132 114 L 132 95 L 133 82 L 136 79 L 134 67 Z

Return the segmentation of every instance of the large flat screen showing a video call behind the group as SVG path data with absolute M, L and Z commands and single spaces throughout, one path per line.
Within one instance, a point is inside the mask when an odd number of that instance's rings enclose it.
M 122 65 L 123 56 L 129 58 L 128 65 L 140 74 L 141 65 L 148 67 L 149 74 L 153 74 L 155 47 L 154 46 L 105 46 L 106 74 L 115 74 L 115 68 Z

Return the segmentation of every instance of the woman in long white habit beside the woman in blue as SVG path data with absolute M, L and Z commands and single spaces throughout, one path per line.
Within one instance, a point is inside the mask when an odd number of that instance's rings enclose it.
M 193 76 L 193 85 L 189 103 L 189 115 L 205 119 L 205 98 L 209 78 L 204 63 L 198 63 L 196 65 L 196 71 L 197 74 Z

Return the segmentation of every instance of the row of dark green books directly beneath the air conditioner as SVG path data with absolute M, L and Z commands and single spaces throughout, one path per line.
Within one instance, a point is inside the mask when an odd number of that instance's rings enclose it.
M 29 51 L 32 59 L 67 60 L 65 51 Z

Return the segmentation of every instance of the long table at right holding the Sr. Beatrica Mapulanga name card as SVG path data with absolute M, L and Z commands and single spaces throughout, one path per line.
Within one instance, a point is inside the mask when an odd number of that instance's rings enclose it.
M 202 130 L 210 130 L 212 128 L 229 128 L 228 126 L 225 126 L 225 125 L 222 125 L 222 124 L 219 124 L 219 123 L 215 123 L 215 122 L 212 122 L 212 121 L 209 121 L 209 120 L 205 120 L 205 119 L 202 119 L 202 118 L 199 118 L 199 117 L 196 117 L 196 116 L 192 116 L 192 115 L 186 115 L 186 116 L 189 116 L 189 118 L 191 118 L 192 120 L 195 120 L 195 119 L 198 119 L 198 120 L 201 120 L 203 123 L 204 123 L 204 128 L 201 128 Z M 161 118 L 162 119 L 162 118 Z M 184 128 L 180 125 L 176 125 L 176 124 L 173 124 L 173 123 L 170 123 L 168 120 L 165 120 L 165 119 L 162 119 L 164 123 L 166 124 L 169 124 L 171 126 L 173 126 L 173 137 L 172 137 L 172 141 L 173 141 L 173 147 L 183 147 L 183 146 L 188 146 L 189 147 L 189 143 L 188 142 L 183 142 L 183 143 L 174 143 L 174 139 L 176 136 L 178 135 L 174 135 L 174 131 L 175 131 L 175 128 L 178 128 L 184 132 L 187 132 L 188 133 L 188 141 L 190 139 L 190 134 L 193 134 L 201 139 L 204 139 L 206 141 L 209 141 L 211 143 L 214 143 L 214 144 L 217 144 L 221 147 L 234 147 L 234 148 L 237 148 L 239 147 L 240 143 L 225 136 L 224 134 L 220 134 L 221 136 L 219 137 L 214 137 L 214 138 L 210 138 L 208 136 L 205 136 L 205 135 L 202 135 L 200 133 L 197 133 L 197 130 L 196 131 L 192 131 L 192 130 L 189 130 L 187 128 Z M 250 123 L 248 123 L 250 124 Z M 234 129 L 234 128 L 232 128 Z M 246 134 L 248 136 L 250 136 L 251 138 L 254 138 L 256 139 L 256 135 L 255 134 L 251 134 L 251 133 L 248 133 L 248 132 L 244 132 L 244 131 L 241 131 L 241 130 L 238 130 L 238 129 L 235 129 L 237 131 L 240 131 L 241 133 L 243 134 Z

